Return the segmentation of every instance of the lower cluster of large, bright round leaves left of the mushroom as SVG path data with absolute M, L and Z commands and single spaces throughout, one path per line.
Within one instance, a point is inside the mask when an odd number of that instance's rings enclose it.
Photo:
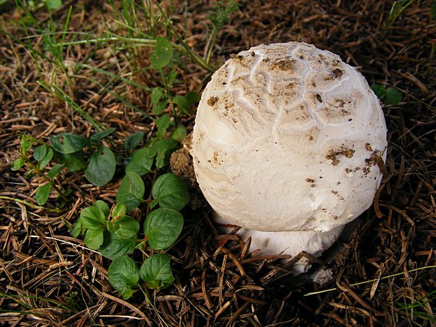
M 143 222 L 143 238 L 138 237 L 140 223 L 127 212 L 134 210 L 143 199 L 145 188 L 143 180 L 136 172 L 127 172 L 117 191 L 117 204 L 110 210 L 108 205 L 97 200 L 91 207 L 82 210 L 72 235 L 82 233 L 84 243 L 92 250 L 112 259 L 108 268 L 108 280 L 115 290 L 128 299 L 140 288 L 139 278 L 146 288 L 165 288 L 174 281 L 170 257 L 165 253 L 150 255 L 136 265 L 132 255 L 136 248 L 154 251 L 167 250 L 177 241 L 184 225 L 179 210 L 189 202 L 187 186 L 172 173 L 162 174 L 152 188 L 153 201 L 150 207 L 159 205 L 151 211 Z

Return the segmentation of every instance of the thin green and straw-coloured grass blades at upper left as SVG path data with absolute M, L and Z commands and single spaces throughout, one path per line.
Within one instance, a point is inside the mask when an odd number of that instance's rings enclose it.
M 215 16 L 219 17 L 217 22 L 214 23 L 212 36 L 215 37 L 219 28 L 222 27 L 222 23 L 228 18 L 228 15 L 237 8 L 235 1 L 230 1 L 231 6 L 226 8 L 220 2 L 218 11 Z M 74 115 L 78 114 L 82 116 L 84 120 L 89 122 L 96 131 L 101 131 L 103 124 L 94 120 L 89 113 L 86 113 L 82 109 L 82 106 L 75 101 L 75 87 L 78 78 L 87 78 L 98 86 L 98 92 L 106 92 L 111 94 L 117 101 L 124 103 L 129 108 L 133 108 L 137 112 L 143 114 L 148 119 L 153 120 L 153 117 L 148 115 L 146 110 L 141 110 L 134 104 L 132 99 L 126 98 L 124 95 L 117 93 L 113 90 L 113 83 L 124 84 L 124 86 L 133 86 L 143 92 L 150 93 L 152 88 L 136 82 L 135 75 L 141 73 L 143 70 L 150 68 L 139 69 L 138 60 L 142 59 L 141 48 L 143 46 L 155 47 L 157 38 L 160 34 L 166 35 L 166 38 L 171 41 L 172 48 L 175 51 L 175 55 L 172 58 L 172 65 L 184 67 L 186 60 L 195 63 L 198 68 L 203 69 L 207 74 L 214 72 L 214 67 L 210 65 L 210 51 L 208 58 L 202 58 L 197 53 L 192 51 L 184 42 L 184 39 L 177 33 L 172 23 L 171 7 L 169 12 L 165 13 L 160 4 L 155 3 L 155 9 L 157 13 L 153 12 L 152 5 L 148 1 L 142 1 L 141 4 L 136 4 L 134 1 L 122 0 L 120 1 L 120 8 L 118 8 L 115 2 L 110 1 L 111 9 L 113 11 L 113 18 L 115 20 L 115 27 L 109 27 L 107 22 L 105 24 L 106 31 L 101 35 L 92 35 L 91 33 L 84 32 L 69 32 L 68 26 L 70 24 L 71 15 L 74 12 L 73 7 L 68 8 L 68 13 L 65 15 L 65 21 L 62 25 L 56 25 L 55 20 L 51 13 L 51 9 L 46 6 L 44 8 L 34 8 L 31 11 L 27 8 L 23 1 L 15 0 L 15 6 L 19 9 L 20 24 L 23 26 L 25 37 L 18 39 L 12 34 L 8 34 L 13 37 L 15 41 L 26 47 L 26 49 L 32 55 L 34 64 L 39 72 L 39 84 L 49 91 L 50 94 L 63 101 L 68 105 L 68 108 L 72 110 L 72 122 L 75 121 Z M 187 8 L 187 6 L 185 6 Z M 49 19 L 45 23 L 39 23 L 36 18 L 37 11 L 46 11 Z M 221 23 L 219 23 L 221 22 Z M 37 34 L 34 31 L 37 31 Z M 7 32 L 6 32 L 7 33 Z M 34 39 L 42 38 L 41 46 L 39 48 L 34 47 Z M 33 41 L 33 43 L 32 43 Z M 84 45 L 92 48 L 91 53 L 80 63 L 74 63 L 68 65 L 68 60 L 65 60 L 65 55 L 69 52 L 70 47 L 75 45 Z M 127 62 L 127 68 L 129 68 L 129 74 L 120 74 L 120 72 L 114 72 L 112 70 L 105 70 L 102 68 L 93 67 L 89 65 L 89 59 L 94 56 L 94 53 L 98 49 L 109 49 L 112 53 L 120 53 L 120 56 L 116 57 L 117 60 L 124 60 Z M 115 56 L 115 55 L 114 55 Z M 123 58 L 124 57 L 124 58 Z M 169 84 L 167 83 L 166 76 L 171 70 L 171 66 L 163 69 L 160 72 L 161 83 L 165 89 L 167 89 L 167 96 L 172 98 L 172 94 L 169 91 Z M 93 77 L 86 76 L 84 69 L 87 69 L 91 73 L 98 72 L 100 74 L 110 77 L 110 82 L 103 84 L 97 82 Z M 82 75 L 80 74 L 82 73 Z M 176 81 L 177 82 L 177 81 Z M 172 103 L 174 108 L 174 103 Z M 174 114 L 173 110 L 173 114 Z

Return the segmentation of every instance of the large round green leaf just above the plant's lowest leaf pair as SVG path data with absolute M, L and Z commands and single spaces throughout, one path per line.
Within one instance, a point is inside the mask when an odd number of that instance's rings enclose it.
M 184 219 L 180 212 L 160 208 L 148 214 L 143 230 L 148 238 L 150 248 L 165 250 L 177 240 L 183 225 Z

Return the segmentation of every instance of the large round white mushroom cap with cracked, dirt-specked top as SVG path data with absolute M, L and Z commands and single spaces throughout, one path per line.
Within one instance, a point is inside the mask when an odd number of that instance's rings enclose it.
M 227 60 L 207 84 L 193 165 L 212 208 L 259 231 L 330 231 L 372 203 L 386 156 L 376 95 L 340 57 L 299 42 Z

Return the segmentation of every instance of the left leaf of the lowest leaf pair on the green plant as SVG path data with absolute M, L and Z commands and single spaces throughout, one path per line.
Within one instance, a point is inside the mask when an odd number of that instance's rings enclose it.
M 118 257 L 109 265 L 108 280 L 115 290 L 122 293 L 124 300 L 127 300 L 132 296 L 132 289 L 138 288 L 139 268 L 131 257 Z

